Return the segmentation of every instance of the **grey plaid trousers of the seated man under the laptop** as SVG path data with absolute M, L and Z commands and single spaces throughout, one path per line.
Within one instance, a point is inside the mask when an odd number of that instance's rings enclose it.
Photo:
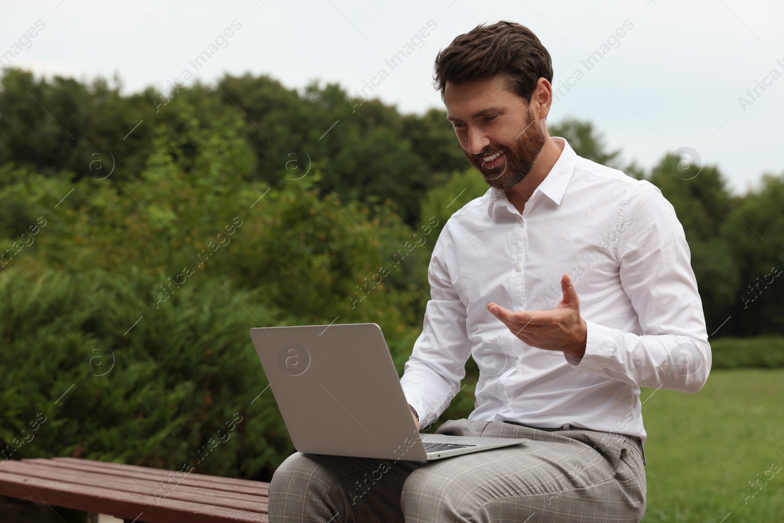
M 637 438 L 468 419 L 449 420 L 437 433 L 533 441 L 431 462 L 295 452 L 270 483 L 270 523 L 638 523 L 644 517 Z

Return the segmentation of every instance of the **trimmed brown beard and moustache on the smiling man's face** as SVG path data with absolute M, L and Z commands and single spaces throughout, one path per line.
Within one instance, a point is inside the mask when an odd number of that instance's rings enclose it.
M 479 169 L 482 176 L 485 176 L 485 182 L 490 187 L 506 191 L 520 183 L 531 172 L 546 140 L 532 112 L 528 112 L 525 127 L 510 146 L 488 146 L 492 148 L 482 151 L 481 154 L 470 154 L 463 149 L 463 154 L 474 167 Z M 503 162 L 497 167 L 488 167 L 491 162 L 485 162 L 485 158 L 491 158 L 499 151 L 503 151 Z

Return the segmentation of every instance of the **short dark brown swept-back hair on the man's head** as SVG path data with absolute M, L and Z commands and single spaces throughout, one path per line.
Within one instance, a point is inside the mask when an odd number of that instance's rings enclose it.
M 446 82 L 459 85 L 504 74 L 506 88 L 528 103 L 539 78 L 553 83 L 553 63 L 542 42 L 528 27 L 506 20 L 477 25 L 456 37 L 438 53 L 434 70 L 441 101 Z

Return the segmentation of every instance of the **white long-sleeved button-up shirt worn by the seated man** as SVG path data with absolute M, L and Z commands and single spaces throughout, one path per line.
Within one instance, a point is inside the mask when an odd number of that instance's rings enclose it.
M 561 156 L 522 215 L 490 188 L 445 224 L 401 385 L 426 427 L 457 394 L 470 354 L 480 376 L 468 419 L 568 423 L 644 442 L 640 387 L 695 393 L 710 372 L 683 227 L 652 183 L 553 140 Z M 528 346 L 487 310 L 553 309 L 564 273 L 587 325 L 582 359 Z

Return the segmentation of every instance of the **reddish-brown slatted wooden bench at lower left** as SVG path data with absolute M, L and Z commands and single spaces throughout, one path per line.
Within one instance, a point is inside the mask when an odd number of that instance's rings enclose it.
M 269 485 L 92 459 L 0 462 L 0 496 L 110 514 L 126 523 L 266 523 Z

